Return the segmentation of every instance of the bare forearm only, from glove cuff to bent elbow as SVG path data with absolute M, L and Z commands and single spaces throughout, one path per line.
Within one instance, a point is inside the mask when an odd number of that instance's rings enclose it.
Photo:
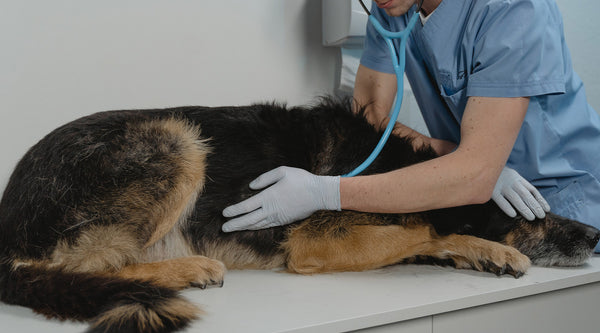
M 462 155 L 462 156 L 461 156 Z M 341 208 L 379 213 L 412 213 L 483 203 L 490 199 L 500 170 L 465 165 L 468 152 L 456 152 L 392 172 L 342 178 Z

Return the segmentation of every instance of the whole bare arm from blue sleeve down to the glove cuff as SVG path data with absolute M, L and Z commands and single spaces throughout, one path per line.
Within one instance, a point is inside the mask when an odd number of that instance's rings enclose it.
M 343 178 L 342 209 L 409 213 L 488 201 L 528 104 L 527 98 L 469 98 L 456 151 L 384 174 Z

